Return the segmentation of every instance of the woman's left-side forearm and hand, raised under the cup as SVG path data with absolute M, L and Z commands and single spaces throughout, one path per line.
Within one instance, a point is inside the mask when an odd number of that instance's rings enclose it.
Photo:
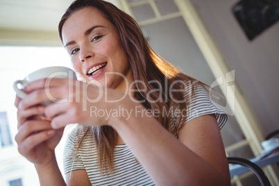
M 63 128 L 53 130 L 51 120 L 39 116 L 44 113 L 44 107 L 35 105 L 23 109 L 19 106 L 20 101 L 16 97 L 18 133 L 15 141 L 19 153 L 35 165 L 40 185 L 66 185 L 54 151 L 62 137 Z

